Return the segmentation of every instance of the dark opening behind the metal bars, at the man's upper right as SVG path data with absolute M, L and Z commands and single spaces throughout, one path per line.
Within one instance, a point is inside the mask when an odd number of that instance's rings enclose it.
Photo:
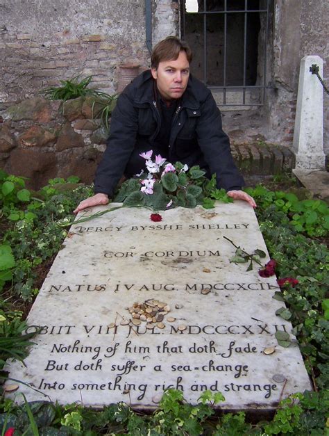
M 194 52 L 192 74 L 221 90 L 223 104 L 233 90 L 242 96 L 239 104 L 251 104 L 250 88 L 257 88 L 254 104 L 262 104 L 269 0 L 183 0 L 182 6 L 182 36 Z

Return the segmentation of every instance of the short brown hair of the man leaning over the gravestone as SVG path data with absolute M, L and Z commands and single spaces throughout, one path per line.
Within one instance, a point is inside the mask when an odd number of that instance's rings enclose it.
M 192 50 L 187 42 L 180 40 L 176 36 L 167 36 L 165 40 L 155 45 L 151 55 L 151 68 L 158 68 L 163 60 L 176 60 L 180 51 L 185 51 L 189 63 L 192 61 Z

